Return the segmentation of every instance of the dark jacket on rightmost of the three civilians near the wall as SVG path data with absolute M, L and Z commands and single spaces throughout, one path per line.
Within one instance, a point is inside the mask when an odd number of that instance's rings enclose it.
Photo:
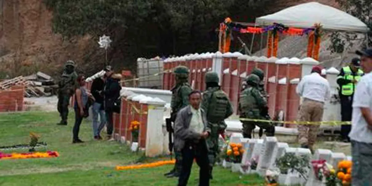
M 107 78 L 105 85 L 105 110 L 108 112 L 113 111 L 115 101 L 120 97 L 120 78 L 112 77 Z

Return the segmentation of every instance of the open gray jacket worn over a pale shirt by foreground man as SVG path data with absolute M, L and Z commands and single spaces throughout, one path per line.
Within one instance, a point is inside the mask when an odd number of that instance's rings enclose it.
M 201 109 L 202 120 L 204 124 L 204 130 L 211 133 L 211 129 L 208 127 L 206 120 L 206 113 Z M 198 141 L 200 134 L 196 133 L 192 129 L 189 129 L 192 118 L 191 105 L 186 106 L 177 113 L 176 122 L 174 123 L 174 148 L 176 150 L 182 150 L 185 147 L 185 142 Z

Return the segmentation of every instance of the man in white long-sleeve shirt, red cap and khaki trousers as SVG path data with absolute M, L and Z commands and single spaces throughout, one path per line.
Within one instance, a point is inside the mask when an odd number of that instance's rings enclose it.
M 331 88 L 328 81 L 321 77 L 320 67 L 313 67 L 311 74 L 302 78 L 296 87 L 296 93 L 303 99 L 297 121 L 321 121 L 324 102 L 330 99 Z M 313 152 L 312 146 L 317 140 L 319 126 L 298 125 L 298 142 L 302 148 L 309 148 Z

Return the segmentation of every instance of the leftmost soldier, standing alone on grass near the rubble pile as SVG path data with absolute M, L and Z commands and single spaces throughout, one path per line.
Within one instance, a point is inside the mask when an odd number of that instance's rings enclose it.
M 62 77 L 58 83 L 58 105 L 57 109 L 61 116 L 61 122 L 57 125 L 67 125 L 68 105 L 70 97 L 74 94 L 77 74 L 75 62 L 68 60 L 65 64 Z

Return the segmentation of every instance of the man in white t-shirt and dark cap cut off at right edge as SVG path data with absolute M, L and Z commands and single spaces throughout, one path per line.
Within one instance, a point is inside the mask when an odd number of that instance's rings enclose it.
M 356 51 L 366 73 L 356 85 L 353 98 L 352 147 L 353 186 L 372 184 L 372 48 Z

